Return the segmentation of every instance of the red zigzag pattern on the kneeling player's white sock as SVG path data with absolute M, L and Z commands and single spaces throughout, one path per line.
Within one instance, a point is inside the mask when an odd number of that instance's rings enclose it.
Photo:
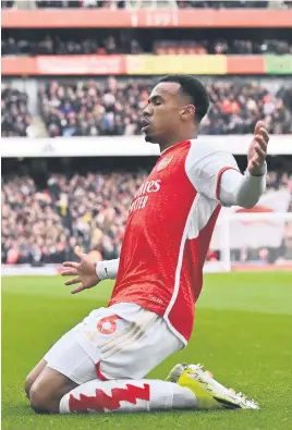
M 121 407 L 121 401 L 125 401 L 136 405 L 137 400 L 150 400 L 150 385 L 145 383 L 144 386 L 126 384 L 125 389 L 112 389 L 111 396 L 105 391 L 96 389 L 95 395 L 88 396 L 80 394 L 80 398 L 73 394 L 69 398 L 69 408 L 72 413 L 88 413 L 88 409 L 105 413 L 105 409 L 114 410 Z

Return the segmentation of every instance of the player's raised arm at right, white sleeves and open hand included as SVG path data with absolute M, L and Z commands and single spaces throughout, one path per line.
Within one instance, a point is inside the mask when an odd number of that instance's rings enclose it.
M 247 170 L 240 172 L 234 157 L 204 138 L 192 143 L 186 174 L 198 193 L 222 206 L 254 207 L 266 188 L 266 157 L 269 135 L 259 121 L 247 153 Z

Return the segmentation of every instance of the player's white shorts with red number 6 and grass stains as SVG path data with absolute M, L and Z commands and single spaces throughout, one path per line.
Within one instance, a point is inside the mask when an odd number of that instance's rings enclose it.
M 166 321 L 134 304 L 92 311 L 45 356 L 77 384 L 92 379 L 142 379 L 183 347 Z

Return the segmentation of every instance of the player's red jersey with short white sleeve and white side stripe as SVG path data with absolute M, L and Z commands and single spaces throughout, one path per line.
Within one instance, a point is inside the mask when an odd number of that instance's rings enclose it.
M 234 158 L 204 139 L 163 151 L 131 205 L 110 305 L 137 304 L 188 341 L 228 169 Z

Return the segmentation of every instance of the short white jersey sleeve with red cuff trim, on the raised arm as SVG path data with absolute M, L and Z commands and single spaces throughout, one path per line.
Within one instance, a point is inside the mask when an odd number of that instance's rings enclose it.
M 198 193 L 219 202 L 221 176 L 228 170 L 240 173 L 239 165 L 231 153 L 216 150 L 212 146 L 196 140 L 191 143 L 185 171 Z

